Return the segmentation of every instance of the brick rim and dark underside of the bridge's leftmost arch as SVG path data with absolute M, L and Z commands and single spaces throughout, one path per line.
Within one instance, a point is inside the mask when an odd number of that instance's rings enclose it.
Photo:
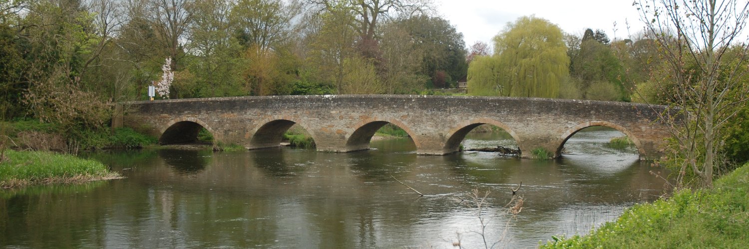
M 159 144 L 180 144 L 198 141 L 198 132 L 205 128 L 216 138 L 216 132 L 197 117 L 178 117 L 159 129 Z

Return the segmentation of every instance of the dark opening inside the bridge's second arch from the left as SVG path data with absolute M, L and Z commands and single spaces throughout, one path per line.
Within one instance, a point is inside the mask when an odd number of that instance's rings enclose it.
M 302 126 L 291 120 L 273 120 L 261 126 L 249 141 L 250 149 L 262 149 L 292 145 L 294 147 L 315 147 L 312 135 Z

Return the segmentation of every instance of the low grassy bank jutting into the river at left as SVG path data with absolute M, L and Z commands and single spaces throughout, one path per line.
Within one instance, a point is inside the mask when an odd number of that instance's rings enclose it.
M 0 162 L 0 188 L 119 177 L 118 173 L 110 172 L 100 162 L 76 156 L 13 150 L 6 150 L 5 156 Z

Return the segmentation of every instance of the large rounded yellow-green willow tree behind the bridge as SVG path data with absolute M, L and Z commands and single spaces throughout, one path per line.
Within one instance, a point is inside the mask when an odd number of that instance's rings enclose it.
M 494 92 L 499 96 L 556 97 L 562 80 L 569 74 L 567 48 L 562 30 L 546 19 L 523 16 L 509 23 L 494 37 Z M 472 64 L 473 65 L 473 64 Z M 482 65 L 478 64 L 477 66 Z M 483 66 L 483 65 L 482 65 Z M 473 66 L 469 66 L 473 67 Z M 473 82 L 486 81 L 476 70 Z M 469 82 L 469 89 L 473 84 Z M 471 90 L 470 93 L 487 92 Z

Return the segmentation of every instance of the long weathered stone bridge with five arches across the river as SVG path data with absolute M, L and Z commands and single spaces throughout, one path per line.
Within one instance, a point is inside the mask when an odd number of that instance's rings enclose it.
M 207 129 L 214 141 L 247 149 L 279 147 L 282 134 L 299 124 L 317 150 L 366 150 L 377 129 L 404 129 L 419 155 L 455 153 L 471 129 L 491 124 L 515 138 L 521 156 L 544 148 L 560 156 L 571 135 L 608 126 L 627 135 L 640 158 L 661 155 L 670 136 L 657 121 L 664 106 L 626 102 L 478 96 L 324 95 L 246 96 L 128 102 L 122 124 L 157 136 L 160 144 L 195 141 Z M 116 123 L 120 120 L 115 119 Z

